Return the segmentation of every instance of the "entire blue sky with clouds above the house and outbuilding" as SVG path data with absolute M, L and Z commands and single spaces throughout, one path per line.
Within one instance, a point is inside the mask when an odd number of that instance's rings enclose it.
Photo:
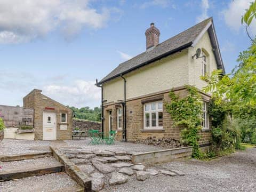
M 64 105 L 100 106 L 95 79 L 146 50 L 151 22 L 161 43 L 213 17 L 230 73 L 250 46 L 241 15 L 251 1 L 0 0 L 0 105 L 22 106 L 41 89 Z

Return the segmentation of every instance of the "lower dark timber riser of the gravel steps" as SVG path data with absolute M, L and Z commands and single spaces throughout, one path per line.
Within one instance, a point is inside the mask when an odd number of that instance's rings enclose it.
M 7 181 L 12 179 L 21 179 L 25 177 L 32 177 L 36 175 L 44 175 L 49 173 L 57 173 L 64 171 L 63 165 L 52 165 L 52 166 L 43 166 L 40 169 L 30 168 L 26 170 L 15 170 L 15 171 L 1 171 L 0 172 L 0 181 Z

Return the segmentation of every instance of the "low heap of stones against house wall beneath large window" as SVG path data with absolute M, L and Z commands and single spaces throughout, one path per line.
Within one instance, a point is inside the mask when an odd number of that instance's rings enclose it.
M 147 139 L 137 140 L 135 141 L 135 143 L 168 148 L 185 147 L 179 140 L 165 137 L 158 139 L 156 137 L 148 137 Z

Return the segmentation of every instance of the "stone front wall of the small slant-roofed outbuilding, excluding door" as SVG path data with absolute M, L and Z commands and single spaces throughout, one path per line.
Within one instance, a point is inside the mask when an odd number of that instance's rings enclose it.
M 41 94 L 41 90 L 33 90 L 23 98 L 24 107 L 34 108 L 35 140 L 43 139 L 43 112 L 56 114 L 57 140 L 71 139 L 73 112 L 68 107 Z M 54 108 L 47 110 L 45 107 Z M 67 123 L 60 123 L 60 113 L 67 113 Z M 67 125 L 67 130 L 60 130 L 60 125 Z

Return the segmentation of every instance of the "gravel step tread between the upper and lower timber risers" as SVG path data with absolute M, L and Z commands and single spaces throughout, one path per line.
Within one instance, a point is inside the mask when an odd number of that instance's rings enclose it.
M 2 169 L 0 169 L 0 173 L 1 171 L 26 170 L 30 168 L 39 168 L 51 165 L 61 165 L 61 163 L 59 163 L 53 157 L 26 159 L 22 161 L 12 162 L 0 162 L 0 166 L 2 166 Z

